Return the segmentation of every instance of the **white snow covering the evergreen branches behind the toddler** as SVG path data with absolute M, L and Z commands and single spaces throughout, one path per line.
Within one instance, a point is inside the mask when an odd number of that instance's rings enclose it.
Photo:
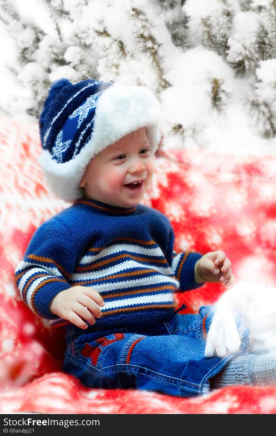
M 259 24 L 269 30 L 268 1 L 253 2 L 251 10 L 242 10 L 238 0 L 187 0 L 182 10 L 178 3 L 158 9 L 161 3 L 155 0 L 50 3 L 69 15 L 55 17 L 43 0 L 12 0 L 20 20 L 10 22 L 9 34 L 0 24 L 0 37 L 5 40 L 0 67 L 5 113 L 18 118 L 33 107 L 38 117 L 51 81 L 101 78 L 146 85 L 157 93 L 168 149 L 275 152 L 268 117 L 269 108 L 276 113 L 276 60 L 258 62 L 256 54 Z M 185 14 L 187 40 L 178 48 L 165 21 Z M 32 24 L 44 32 L 37 47 Z M 229 48 L 223 52 L 226 42 Z M 18 50 L 25 48 L 33 51 L 31 61 L 20 65 Z M 240 61 L 247 71 L 244 78 L 237 77 L 230 65 Z M 7 68 L 17 72 L 18 80 Z M 170 87 L 160 87 L 160 75 Z M 262 113 L 253 111 L 252 101 Z M 177 134 L 176 125 L 181 125 Z

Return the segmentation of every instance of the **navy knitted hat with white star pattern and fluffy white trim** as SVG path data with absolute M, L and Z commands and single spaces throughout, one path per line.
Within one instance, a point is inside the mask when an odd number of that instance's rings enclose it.
M 53 82 L 39 119 L 40 163 L 51 190 L 65 201 L 82 198 L 78 185 L 90 159 L 141 127 L 155 153 L 160 116 L 157 99 L 142 86 L 92 79 Z

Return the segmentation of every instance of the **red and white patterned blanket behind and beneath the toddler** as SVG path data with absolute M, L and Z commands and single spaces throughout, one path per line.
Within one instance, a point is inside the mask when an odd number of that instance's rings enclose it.
M 21 302 L 14 269 L 35 229 L 67 206 L 48 191 L 37 164 L 37 125 L 0 119 L 0 412 L 276 413 L 276 388 L 230 386 L 183 399 L 136 390 L 88 389 L 62 373 L 64 333 L 51 332 Z M 170 219 L 175 250 L 222 249 L 236 283 L 276 283 L 276 157 L 161 149 L 144 203 Z M 225 290 L 208 283 L 178 293 L 197 313 Z M 269 303 L 269 302 L 268 302 Z M 185 313 L 185 312 L 182 312 Z

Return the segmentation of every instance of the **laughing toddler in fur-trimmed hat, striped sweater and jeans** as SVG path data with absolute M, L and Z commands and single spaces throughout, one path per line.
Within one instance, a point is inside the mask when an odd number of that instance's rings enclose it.
M 240 353 L 204 357 L 212 307 L 175 310 L 175 291 L 207 281 L 228 286 L 234 276 L 222 251 L 176 254 L 168 219 L 140 204 L 159 123 L 146 88 L 53 83 L 40 118 L 41 164 L 55 194 L 72 205 L 35 232 L 16 270 L 20 295 L 66 328 L 64 370 L 87 386 L 189 396 L 262 384 L 263 365 L 242 351 L 246 341 Z

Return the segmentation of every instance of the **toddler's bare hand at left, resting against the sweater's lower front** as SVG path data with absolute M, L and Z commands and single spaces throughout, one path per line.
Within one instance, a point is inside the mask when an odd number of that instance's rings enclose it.
M 95 324 L 95 317 L 100 318 L 102 312 L 99 306 L 104 306 L 102 297 L 94 289 L 86 286 L 72 286 L 59 292 L 51 301 L 49 310 L 63 320 L 68 320 L 77 327 L 86 329 L 89 324 Z

